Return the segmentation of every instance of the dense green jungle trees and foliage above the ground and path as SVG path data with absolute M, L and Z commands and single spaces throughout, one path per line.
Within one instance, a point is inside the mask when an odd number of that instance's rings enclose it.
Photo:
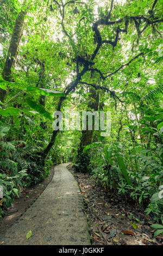
M 162 21 L 161 0 L 0 0 L 0 217 L 73 161 L 163 224 Z M 53 130 L 65 107 L 110 111 L 110 135 Z

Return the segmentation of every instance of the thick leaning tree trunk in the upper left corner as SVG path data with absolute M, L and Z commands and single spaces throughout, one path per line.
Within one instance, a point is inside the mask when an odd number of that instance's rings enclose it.
M 12 78 L 11 68 L 14 67 L 15 61 L 17 58 L 18 50 L 20 47 L 20 42 L 23 35 L 24 30 L 24 16 L 26 15 L 26 11 L 20 11 L 17 15 L 14 29 L 12 32 L 9 50 L 7 59 L 5 60 L 4 67 L 2 70 L 2 77 L 4 80 L 10 81 Z M 4 102 L 5 97 L 7 96 L 7 91 L 0 88 L 0 100 Z

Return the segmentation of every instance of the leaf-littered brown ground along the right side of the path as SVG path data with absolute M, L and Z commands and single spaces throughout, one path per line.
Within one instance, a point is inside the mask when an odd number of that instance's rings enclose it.
M 153 237 L 149 217 L 121 196 L 109 195 L 90 174 L 67 167 L 77 179 L 85 202 L 92 245 L 163 245 L 163 236 Z

